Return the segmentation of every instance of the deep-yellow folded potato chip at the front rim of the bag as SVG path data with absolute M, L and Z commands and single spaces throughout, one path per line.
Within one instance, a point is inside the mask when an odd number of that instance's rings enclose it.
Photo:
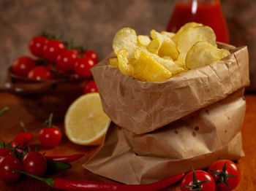
M 133 77 L 145 82 L 160 82 L 169 79 L 172 74 L 164 66 L 157 63 L 153 58 L 141 51 L 136 61 L 132 62 L 134 66 Z

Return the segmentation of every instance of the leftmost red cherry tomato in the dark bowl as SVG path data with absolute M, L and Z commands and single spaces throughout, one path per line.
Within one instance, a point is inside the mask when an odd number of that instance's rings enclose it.
M 35 66 L 37 66 L 36 61 L 28 56 L 22 56 L 12 63 L 12 73 L 20 77 L 27 77 L 29 71 Z

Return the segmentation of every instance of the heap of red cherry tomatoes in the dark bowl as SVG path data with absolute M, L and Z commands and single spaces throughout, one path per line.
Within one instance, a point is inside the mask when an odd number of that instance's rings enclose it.
M 50 80 L 75 74 L 81 78 L 91 78 L 90 69 L 99 62 L 94 50 L 70 47 L 67 42 L 49 34 L 34 36 L 29 42 L 29 50 L 37 59 L 21 56 L 12 63 L 12 73 L 19 77 L 35 80 Z M 92 80 L 84 92 L 97 91 Z

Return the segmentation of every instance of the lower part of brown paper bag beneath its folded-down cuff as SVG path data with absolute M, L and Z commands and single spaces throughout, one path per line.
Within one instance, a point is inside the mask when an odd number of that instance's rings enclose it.
M 146 184 L 219 159 L 238 160 L 244 156 L 243 93 L 238 90 L 151 133 L 138 135 L 112 122 L 102 148 L 83 167 L 118 182 Z

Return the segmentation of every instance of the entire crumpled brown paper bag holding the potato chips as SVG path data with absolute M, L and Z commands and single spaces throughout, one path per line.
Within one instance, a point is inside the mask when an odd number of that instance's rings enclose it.
M 156 182 L 244 155 L 241 125 L 249 84 L 246 47 L 164 82 L 140 82 L 109 66 L 92 69 L 110 123 L 83 167 L 126 184 Z

